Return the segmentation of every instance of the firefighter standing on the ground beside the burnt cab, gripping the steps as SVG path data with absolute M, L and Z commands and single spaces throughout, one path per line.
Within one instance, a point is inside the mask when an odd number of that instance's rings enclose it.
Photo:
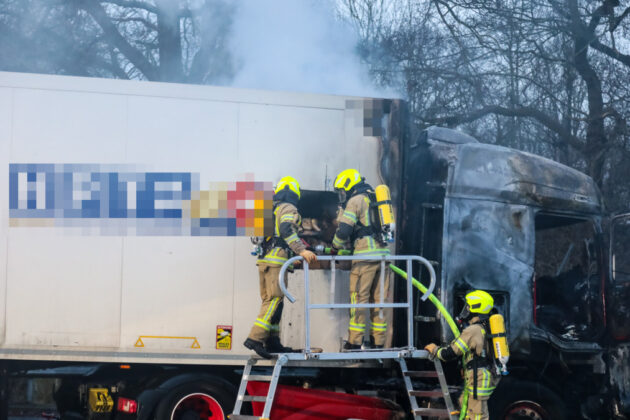
M 424 347 L 433 357 L 448 362 L 464 356 L 464 382 L 466 389 L 460 397 L 460 406 L 468 395 L 466 419 L 488 420 L 488 399 L 500 377 L 493 369 L 493 350 L 488 337 L 489 314 L 494 306 L 492 296 L 483 290 L 466 294 L 466 304 L 459 316 L 468 326 L 449 345 L 438 347 L 430 343 Z M 463 406 L 462 406 L 463 407 Z

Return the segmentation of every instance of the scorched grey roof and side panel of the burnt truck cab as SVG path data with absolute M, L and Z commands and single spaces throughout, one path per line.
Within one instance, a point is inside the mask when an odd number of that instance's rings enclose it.
M 422 176 L 430 182 L 425 183 L 429 188 L 424 188 L 420 200 L 437 202 L 439 194 L 431 187 L 446 188 L 444 228 L 422 235 L 442 235 L 441 250 L 431 251 L 429 241 L 424 248 L 421 244 L 421 249 L 434 252 L 429 258 L 441 258 L 440 299 L 456 313 L 461 302 L 457 295 L 463 291 L 505 293 L 510 345 L 515 352 L 527 354 L 530 331 L 537 331 L 531 321 L 530 286 L 535 214 L 544 210 L 599 218 L 601 194 L 593 180 L 579 171 L 530 153 L 479 143 L 455 130 L 433 127 L 426 130 L 424 140 L 431 159 L 420 162 L 427 171 Z M 418 159 L 426 158 L 422 152 L 416 153 Z M 439 220 L 429 219 L 427 226 Z M 447 341 L 448 329 L 441 333 Z

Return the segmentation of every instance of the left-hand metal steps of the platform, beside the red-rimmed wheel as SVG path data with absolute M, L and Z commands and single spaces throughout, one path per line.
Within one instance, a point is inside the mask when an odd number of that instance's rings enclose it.
M 275 359 L 275 363 L 273 365 L 273 372 L 271 375 L 252 375 L 252 367 L 259 362 L 260 360 L 256 357 L 250 357 L 245 365 L 245 369 L 243 370 L 243 377 L 241 378 L 241 385 L 238 388 L 238 395 L 236 397 L 236 403 L 234 404 L 234 412 L 230 414 L 228 417 L 230 420 L 269 420 L 269 415 L 271 414 L 271 406 L 273 405 L 273 399 L 276 396 L 276 388 L 278 386 L 278 380 L 280 379 L 280 372 L 282 370 L 282 366 L 284 366 L 289 360 L 288 357 L 284 354 L 278 356 Z M 247 383 L 249 381 L 259 381 L 259 382 L 269 382 L 269 389 L 267 390 L 267 395 L 245 395 L 247 391 Z M 265 408 L 263 409 L 262 416 L 246 416 L 241 414 L 241 409 L 243 407 L 243 402 L 263 402 L 265 403 Z

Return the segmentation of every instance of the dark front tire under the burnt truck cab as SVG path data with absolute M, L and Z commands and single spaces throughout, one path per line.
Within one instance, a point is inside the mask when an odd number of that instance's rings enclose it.
M 544 385 L 504 380 L 488 401 L 490 420 L 566 420 L 562 399 Z

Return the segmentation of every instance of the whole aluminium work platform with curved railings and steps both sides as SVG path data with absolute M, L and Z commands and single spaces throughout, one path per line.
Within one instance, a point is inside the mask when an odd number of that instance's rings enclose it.
M 292 303 L 295 302 L 295 298 L 289 293 L 284 284 L 284 274 L 289 265 L 291 265 L 296 260 L 301 260 L 302 257 L 293 257 L 289 259 L 282 266 L 279 275 L 279 284 L 280 288 L 284 292 L 285 296 Z M 407 390 L 407 396 L 409 398 L 411 412 L 413 414 L 413 418 L 415 420 L 421 420 L 423 416 L 432 416 L 439 418 L 447 418 L 449 420 L 456 420 L 459 418 L 457 412 L 454 409 L 453 401 L 451 399 L 450 391 L 448 389 L 448 385 L 446 383 L 446 379 L 444 377 L 444 371 L 442 369 L 442 364 L 438 359 L 433 360 L 433 364 L 435 370 L 426 370 L 426 371 L 409 371 L 407 369 L 407 360 L 410 359 L 429 359 L 429 353 L 425 350 L 417 350 L 413 347 L 413 311 L 412 311 L 412 283 L 411 283 L 411 262 L 418 261 L 424 266 L 427 267 L 429 273 L 431 275 L 431 283 L 428 287 L 427 292 L 422 296 L 422 300 L 426 300 L 428 296 L 433 291 L 435 287 L 435 271 L 431 266 L 431 263 L 426 259 L 418 256 L 378 256 L 378 257 L 369 257 L 369 256 L 318 256 L 319 260 L 331 260 L 331 291 L 334 290 L 334 282 L 335 282 L 335 260 L 376 260 L 381 262 L 381 279 L 380 285 L 383 287 L 384 282 L 384 272 L 385 272 L 385 262 L 386 261 L 396 261 L 396 260 L 406 260 L 407 261 L 407 302 L 406 303 L 385 303 L 383 302 L 383 298 L 381 298 L 381 302 L 374 304 L 311 304 L 309 301 L 309 276 L 308 276 L 308 263 L 303 261 L 304 264 L 304 290 L 305 290 L 305 350 L 301 353 L 281 353 L 274 355 L 273 359 L 266 360 L 262 359 L 258 356 L 252 356 L 247 361 L 245 368 L 243 370 L 243 376 L 241 378 L 241 383 L 238 390 L 238 395 L 236 399 L 236 403 L 234 405 L 233 414 L 229 416 L 231 420 L 269 420 L 269 416 L 271 414 L 271 409 L 273 406 L 273 401 L 276 394 L 276 389 L 278 386 L 278 382 L 280 379 L 280 375 L 282 372 L 282 368 L 284 366 L 299 366 L 304 362 L 316 362 L 316 361 L 328 361 L 328 362 L 353 362 L 357 361 L 375 361 L 375 360 L 394 360 L 398 362 L 401 370 L 401 374 L 403 377 L 403 381 L 405 384 L 405 388 Z M 384 296 L 384 293 L 381 293 L 381 297 Z M 331 296 L 332 297 L 332 296 Z M 310 316 L 309 312 L 311 309 L 331 309 L 331 308 L 405 308 L 407 309 L 408 314 L 408 325 L 407 325 L 407 333 L 408 333 L 408 346 L 403 348 L 396 349 L 378 349 L 378 350 L 355 350 L 348 352 L 339 352 L 339 353 L 316 353 L 310 350 Z M 273 366 L 273 372 L 271 375 L 261 375 L 256 372 L 253 373 L 253 368 L 255 365 L 259 363 L 270 363 Z M 413 383 L 411 378 L 437 378 L 440 388 L 437 390 L 415 390 L 413 387 Z M 258 381 L 258 382 L 268 382 L 269 388 L 267 391 L 267 395 L 246 395 L 247 392 L 247 384 L 250 381 Z M 442 398 L 446 405 L 446 409 L 444 408 L 424 408 L 418 405 L 417 398 L 425 397 L 425 398 Z M 244 402 L 264 402 L 264 408 L 261 416 L 248 416 L 242 415 L 241 410 Z

